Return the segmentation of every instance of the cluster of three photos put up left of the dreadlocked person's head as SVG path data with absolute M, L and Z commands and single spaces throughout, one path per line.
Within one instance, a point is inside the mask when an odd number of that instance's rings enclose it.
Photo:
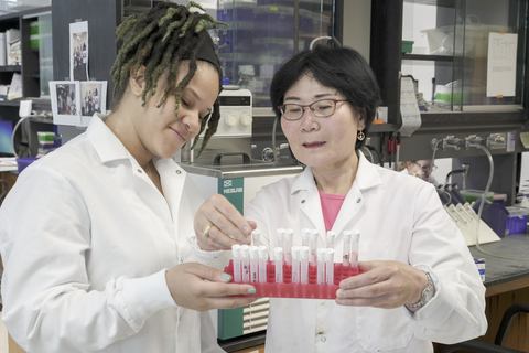
M 53 122 L 86 127 L 107 113 L 107 82 L 90 79 L 88 21 L 69 24 L 69 79 L 51 81 Z

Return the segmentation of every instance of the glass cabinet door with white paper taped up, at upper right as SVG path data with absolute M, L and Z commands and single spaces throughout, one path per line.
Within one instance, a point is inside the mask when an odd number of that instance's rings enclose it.
M 401 69 L 421 110 L 521 107 L 526 13 L 526 0 L 404 1 Z

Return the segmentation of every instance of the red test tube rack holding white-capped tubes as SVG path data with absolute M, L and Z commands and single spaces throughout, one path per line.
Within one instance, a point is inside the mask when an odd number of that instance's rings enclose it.
M 336 299 L 336 291 L 339 282 L 352 276 L 358 275 L 358 270 L 345 267 L 342 264 L 334 264 L 334 284 L 316 285 L 317 266 L 309 265 L 309 284 L 292 284 L 292 266 L 283 263 L 283 282 L 276 282 L 276 261 L 267 261 L 267 281 L 249 282 L 256 288 L 252 295 L 245 297 L 270 297 L 270 298 L 305 298 L 305 299 Z M 224 271 L 234 275 L 234 261 L 229 260 Z

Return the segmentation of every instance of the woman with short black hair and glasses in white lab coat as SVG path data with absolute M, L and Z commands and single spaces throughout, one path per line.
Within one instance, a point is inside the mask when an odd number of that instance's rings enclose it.
M 263 188 L 245 217 L 269 252 L 278 228 L 294 229 L 293 246 L 302 228 L 317 229 L 319 248 L 334 231 L 335 263 L 342 233 L 358 229 L 361 274 L 339 284 L 335 301 L 271 298 L 266 352 L 433 352 L 432 341 L 484 334 L 485 287 L 433 185 L 359 153 L 380 103 L 367 62 L 352 49 L 317 46 L 289 60 L 270 94 L 306 168 Z M 220 234 L 215 242 L 234 243 Z M 212 245 L 201 235 L 198 244 Z

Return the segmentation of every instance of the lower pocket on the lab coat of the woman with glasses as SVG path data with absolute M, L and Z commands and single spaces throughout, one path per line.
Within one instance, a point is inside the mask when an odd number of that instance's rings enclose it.
M 408 346 L 413 335 L 402 308 L 357 308 L 356 335 L 367 352 L 386 352 Z

